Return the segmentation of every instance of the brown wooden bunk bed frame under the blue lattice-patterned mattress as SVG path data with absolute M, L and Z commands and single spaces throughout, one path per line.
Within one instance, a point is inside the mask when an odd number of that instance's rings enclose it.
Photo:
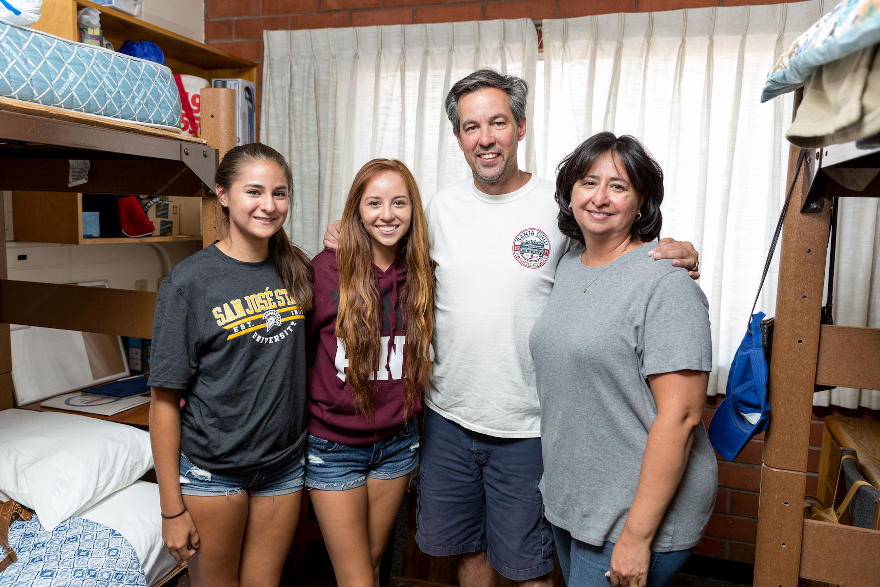
M 68 187 L 68 160 L 88 159 L 90 192 L 202 197 L 206 246 L 218 238 L 219 213 L 202 186 L 213 187 L 219 158 L 235 145 L 233 90 L 202 91 L 202 136 L 0 99 L 0 189 L 82 191 Z M 11 281 L 0 241 L 0 409 L 15 407 L 10 324 L 151 338 L 155 305 L 155 292 Z

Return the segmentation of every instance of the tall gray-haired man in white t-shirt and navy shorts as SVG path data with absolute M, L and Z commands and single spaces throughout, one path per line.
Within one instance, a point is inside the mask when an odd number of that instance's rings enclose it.
M 473 177 L 440 190 L 426 212 L 436 262 L 435 360 L 425 390 L 415 539 L 457 555 L 462 587 L 549 586 L 553 536 L 538 483 L 540 407 L 529 333 L 568 250 L 555 185 L 517 165 L 525 82 L 494 70 L 456 83 L 446 112 Z M 325 245 L 335 246 L 330 227 Z M 693 268 L 690 243 L 655 259 Z

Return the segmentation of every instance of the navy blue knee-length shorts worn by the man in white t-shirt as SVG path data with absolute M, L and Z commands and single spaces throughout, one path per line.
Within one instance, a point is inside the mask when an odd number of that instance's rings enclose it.
M 422 552 L 485 550 L 489 564 L 514 581 L 553 570 L 553 531 L 538 488 L 541 439 L 490 437 L 430 408 L 422 435 L 415 514 Z

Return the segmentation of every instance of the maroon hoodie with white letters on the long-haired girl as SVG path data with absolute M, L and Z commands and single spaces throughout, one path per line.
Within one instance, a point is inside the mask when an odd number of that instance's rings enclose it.
M 382 301 L 382 355 L 373 387 L 373 420 L 355 413 L 354 392 L 345 384 L 348 356 L 336 338 L 339 269 L 326 250 L 312 260 L 314 308 L 306 318 L 308 346 L 309 434 L 341 444 L 366 444 L 392 437 L 403 428 L 403 353 L 406 330 L 400 298 L 407 269 L 398 258 L 383 271 L 373 265 Z M 422 408 L 416 396 L 414 413 Z M 411 415 L 413 417 L 413 415 Z

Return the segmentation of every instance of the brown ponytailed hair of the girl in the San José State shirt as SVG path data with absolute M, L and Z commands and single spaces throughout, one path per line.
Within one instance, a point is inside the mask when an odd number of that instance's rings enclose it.
M 233 147 L 226 152 L 223 161 L 217 165 L 214 183 L 225 192 L 231 190 L 232 184 L 238 179 L 245 165 L 258 160 L 272 161 L 281 167 L 287 180 L 287 199 L 293 206 L 293 173 L 290 165 L 277 150 L 263 143 L 246 143 Z M 229 209 L 222 208 L 224 222 L 229 224 Z M 269 237 L 269 256 L 275 265 L 275 271 L 287 288 L 290 297 L 303 311 L 312 309 L 312 263 L 303 251 L 290 242 L 287 232 L 278 229 Z

